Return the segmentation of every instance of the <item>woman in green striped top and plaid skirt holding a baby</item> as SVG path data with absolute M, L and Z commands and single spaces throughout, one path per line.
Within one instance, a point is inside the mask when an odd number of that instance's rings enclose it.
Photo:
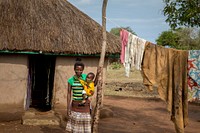
M 86 74 L 83 74 L 84 64 L 76 62 L 74 64 L 75 75 L 68 79 L 68 95 L 67 95 L 67 115 L 68 122 L 66 130 L 73 133 L 91 133 L 91 115 L 90 101 L 86 100 L 84 106 L 80 106 L 83 100 L 83 86 L 79 79 L 86 80 Z M 97 75 L 99 71 L 97 71 Z M 97 76 L 95 84 L 97 83 Z

